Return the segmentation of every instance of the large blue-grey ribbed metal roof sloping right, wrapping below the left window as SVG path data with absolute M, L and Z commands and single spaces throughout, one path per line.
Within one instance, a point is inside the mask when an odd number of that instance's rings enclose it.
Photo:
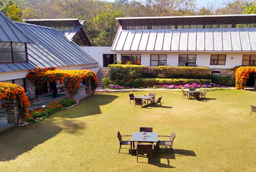
M 34 39 L 34 43 L 27 44 L 28 63 L 0 64 L 0 72 L 97 63 L 77 44 L 70 42 L 64 31 L 20 22 L 15 25 Z

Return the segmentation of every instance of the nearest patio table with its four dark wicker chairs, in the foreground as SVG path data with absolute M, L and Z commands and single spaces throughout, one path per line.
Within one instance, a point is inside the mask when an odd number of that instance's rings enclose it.
M 122 137 L 130 136 L 130 140 L 123 140 Z M 158 140 L 158 137 L 167 137 L 169 140 Z M 152 127 L 140 127 L 139 132 L 133 132 L 133 135 L 121 135 L 117 132 L 117 138 L 120 143 L 120 148 L 118 153 L 120 153 L 122 145 L 130 145 L 130 152 L 133 155 L 133 151 L 136 150 L 136 157 L 138 162 L 139 155 L 147 154 L 151 157 L 151 162 L 153 160 L 153 151 L 156 148 L 157 155 L 160 145 L 170 147 L 173 153 L 173 140 L 176 137 L 175 132 L 172 132 L 170 136 L 168 135 L 158 135 L 157 132 L 153 132 Z M 135 142 L 137 142 L 135 144 Z M 156 145 L 154 145 L 156 143 Z

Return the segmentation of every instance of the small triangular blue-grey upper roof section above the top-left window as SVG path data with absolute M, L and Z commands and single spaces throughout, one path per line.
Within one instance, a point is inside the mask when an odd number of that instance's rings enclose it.
M 0 41 L 31 43 L 32 40 L 22 32 L 10 18 L 0 11 Z

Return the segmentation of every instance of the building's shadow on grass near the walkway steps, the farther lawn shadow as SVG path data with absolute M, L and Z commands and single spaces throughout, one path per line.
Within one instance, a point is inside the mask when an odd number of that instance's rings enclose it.
M 64 118 L 79 118 L 86 117 L 90 115 L 101 114 L 100 106 L 109 104 L 114 101 L 118 96 L 116 95 L 92 95 L 89 98 L 84 98 L 80 100 L 77 106 L 74 106 L 65 111 L 60 111 L 54 115 L 54 117 L 64 117 Z

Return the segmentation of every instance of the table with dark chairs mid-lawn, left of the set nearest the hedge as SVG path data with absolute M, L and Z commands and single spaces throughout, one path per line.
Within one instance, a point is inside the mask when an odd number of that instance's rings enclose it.
M 136 105 L 141 105 L 141 107 L 142 107 L 143 104 L 145 106 L 148 106 L 151 104 L 156 104 L 157 107 L 158 107 L 158 104 L 160 104 L 160 106 L 161 106 L 162 105 L 161 100 L 163 97 L 157 98 L 157 100 L 155 97 L 156 97 L 155 93 L 149 93 L 149 95 L 140 95 L 137 97 L 135 97 L 133 94 L 129 95 L 130 104 L 131 104 L 131 101 L 133 101 L 134 107 L 136 107 Z

